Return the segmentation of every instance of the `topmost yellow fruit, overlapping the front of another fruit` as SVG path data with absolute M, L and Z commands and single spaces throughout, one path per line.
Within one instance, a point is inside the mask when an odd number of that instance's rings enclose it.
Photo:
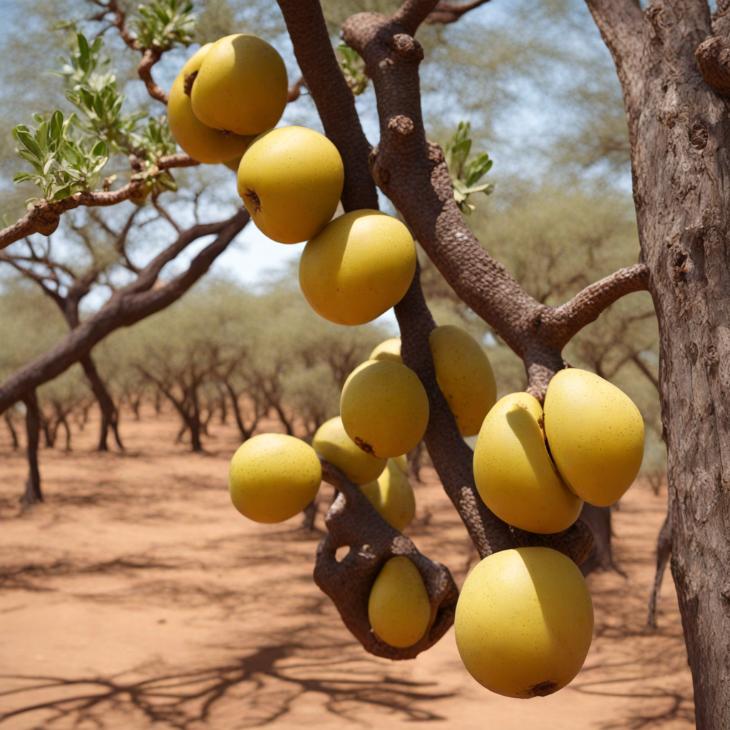
M 256 135 L 276 126 L 287 95 L 286 67 L 274 47 L 256 36 L 234 34 L 218 39 L 206 54 L 191 101 L 207 126 Z

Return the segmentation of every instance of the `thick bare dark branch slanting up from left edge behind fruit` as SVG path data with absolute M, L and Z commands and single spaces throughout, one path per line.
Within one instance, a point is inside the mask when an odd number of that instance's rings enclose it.
M 228 220 L 185 231 L 183 236 L 142 269 L 136 281 L 115 291 L 104 307 L 69 332 L 58 345 L 23 366 L 0 385 L 0 413 L 22 398 L 23 393 L 27 393 L 29 389 L 37 388 L 60 375 L 89 353 L 110 332 L 139 322 L 180 299 L 210 269 L 215 258 L 226 249 L 248 220 L 249 215 L 242 208 Z M 164 286 L 153 288 L 164 264 L 171 261 L 193 240 L 214 233 L 218 234 L 215 240 L 193 258 L 185 272 Z

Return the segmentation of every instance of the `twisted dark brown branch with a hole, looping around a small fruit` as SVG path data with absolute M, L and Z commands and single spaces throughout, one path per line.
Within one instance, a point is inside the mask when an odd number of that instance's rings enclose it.
M 453 623 L 458 588 L 446 566 L 423 556 L 415 545 L 374 510 L 366 496 L 334 466 L 322 461 L 323 480 L 339 491 L 327 512 L 328 533 L 317 548 L 315 583 L 337 606 L 342 621 L 364 648 L 388 659 L 412 659 L 431 648 Z M 342 561 L 337 548 L 349 546 Z M 431 603 L 426 634 L 414 645 L 396 648 L 370 628 L 368 599 L 375 578 L 393 556 L 407 556 L 418 568 Z

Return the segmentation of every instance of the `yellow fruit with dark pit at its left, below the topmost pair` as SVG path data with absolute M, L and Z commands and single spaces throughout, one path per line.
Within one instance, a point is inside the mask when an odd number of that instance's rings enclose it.
M 281 127 L 261 134 L 238 169 L 238 194 L 253 222 L 279 243 L 301 243 L 332 219 L 345 168 L 323 134 Z

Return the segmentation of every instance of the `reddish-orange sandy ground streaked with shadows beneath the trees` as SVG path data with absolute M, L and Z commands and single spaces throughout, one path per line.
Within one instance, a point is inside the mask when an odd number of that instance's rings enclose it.
M 242 518 L 227 493 L 239 445 L 174 445 L 172 414 L 123 420 L 127 453 L 45 449 L 45 504 L 20 510 L 22 452 L 0 429 L 0 730 L 694 727 L 677 599 L 645 629 L 666 494 L 637 483 L 615 512 L 626 572 L 593 575 L 596 634 L 555 695 L 515 700 L 467 674 L 453 630 L 414 661 L 364 652 L 312 581 L 321 532 Z M 61 440 L 61 439 L 59 439 Z M 461 585 L 475 563 L 432 470 L 407 533 Z M 318 528 L 331 490 L 320 492 Z M 2 714 L 4 713 L 4 715 Z

